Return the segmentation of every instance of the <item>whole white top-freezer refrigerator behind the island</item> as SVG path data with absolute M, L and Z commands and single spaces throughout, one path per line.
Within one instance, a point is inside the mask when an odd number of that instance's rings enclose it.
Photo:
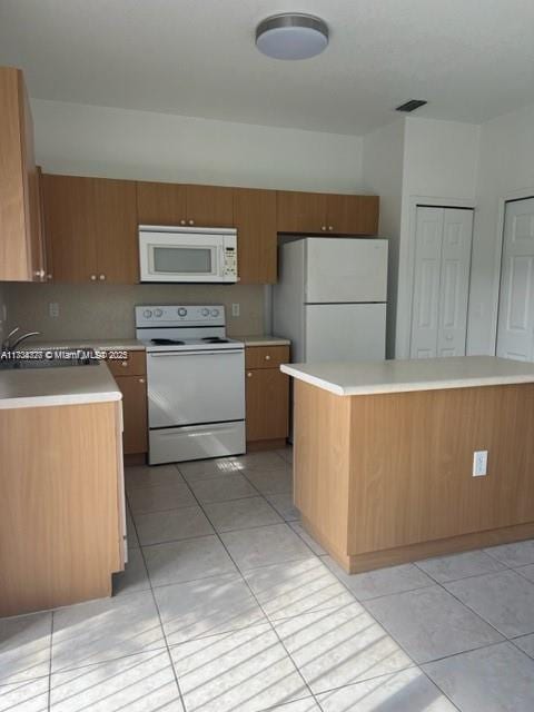
M 387 240 L 305 237 L 279 247 L 273 329 L 291 360 L 385 358 Z

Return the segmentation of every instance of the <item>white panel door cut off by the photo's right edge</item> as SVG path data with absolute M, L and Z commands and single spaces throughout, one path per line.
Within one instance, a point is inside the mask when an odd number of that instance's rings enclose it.
M 534 360 L 534 198 L 506 205 L 497 356 Z

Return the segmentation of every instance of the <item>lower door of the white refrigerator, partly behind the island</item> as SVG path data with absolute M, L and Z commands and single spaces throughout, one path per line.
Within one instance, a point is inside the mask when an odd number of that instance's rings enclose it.
M 386 357 L 385 304 L 307 304 L 307 363 Z

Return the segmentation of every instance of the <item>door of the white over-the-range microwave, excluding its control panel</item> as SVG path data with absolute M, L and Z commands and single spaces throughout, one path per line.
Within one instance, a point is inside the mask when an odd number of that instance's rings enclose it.
M 141 281 L 225 281 L 224 238 L 139 230 Z

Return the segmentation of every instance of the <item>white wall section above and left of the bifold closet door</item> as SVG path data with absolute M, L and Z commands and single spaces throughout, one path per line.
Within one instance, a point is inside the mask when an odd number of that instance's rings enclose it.
M 395 355 L 407 358 L 413 289 L 415 206 L 474 206 L 479 127 L 458 121 L 406 119 Z M 476 221 L 476 220 L 475 220 Z

